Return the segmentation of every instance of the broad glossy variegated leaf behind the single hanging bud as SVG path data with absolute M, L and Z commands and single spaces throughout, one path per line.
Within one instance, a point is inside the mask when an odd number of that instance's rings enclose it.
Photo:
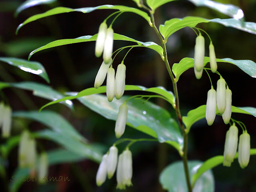
M 116 120 L 119 106 L 128 98 L 122 96 L 120 100 L 114 98 L 112 102 L 108 102 L 106 96 L 95 94 L 80 97 L 78 100 L 105 118 Z M 183 147 L 183 138 L 176 120 L 163 108 L 151 102 L 144 102 L 145 100 L 137 99 L 127 101 L 127 125 L 158 138 L 159 142 L 168 142 L 180 151 Z

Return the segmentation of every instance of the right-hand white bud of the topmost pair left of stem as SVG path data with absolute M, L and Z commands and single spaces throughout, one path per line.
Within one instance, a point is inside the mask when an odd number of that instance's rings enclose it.
M 109 27 L 106 32 L 106 40 L 104 44 L 103 60 L 105 63 L 109 63 L 113 52 L 113 36 L 114 30 Z

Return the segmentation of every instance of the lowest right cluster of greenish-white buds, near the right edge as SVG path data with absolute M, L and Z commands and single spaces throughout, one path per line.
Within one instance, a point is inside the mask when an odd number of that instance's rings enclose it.
M 250 135 L 247 131 L 239 137 L 238 143 L 238 128 L 235 123 L 230 126 L 229 130 L 226 133 L 226 140 L 224 146 L 224 166 L 231 166 L 231 163 L 234 161 L 234 156 L 237 151 L 238 145 L 238 162 L 241 168 L 245 168 L 250 160 Z

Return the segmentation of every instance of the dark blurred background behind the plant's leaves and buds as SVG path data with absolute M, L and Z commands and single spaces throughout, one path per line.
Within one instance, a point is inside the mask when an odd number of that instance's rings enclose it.
M 14 11 L 24 1 L 11 0 L 0 1 L 0 56 L 28 58 L 28 54 L 48 42 L 63 38 L 77 38 L 84 35 L 94 35 L 98 32 L 100 23 L 114 10 L 96 10 L 83 14 L 72 12 L 50 16 L 31 22 L 22 27 L 15 35 L 17 26 L 26 18 L 45 12 L 56 6 L 70 8 L 94 7 L 102 4 L 120 4 L 136 7 L 132 0 L 58 0 L 50 5 L 41 5 L 28 8 L 22 11 L 17 18 L 14 18 Z M 219 0 L 222 3 L 232 3 L 244 11 L 246 21 L 256 22 L 256 1 L 254 0 Z M 170 2 L 157 9 L 155 13 L 156 24 L 164 24 L 165 20 L 171 18 L 182 18 L 184 16 L 201 16 L 204 18 L 228 18 L 206 7 L 195 7 L 186 0 Z M 256 36 L 226 28 L 220 24 L 208 23 L 199 24 L 200 28 L 206 30 L 211 36 L 215 46 L 217 58 L 232 58 L 235 60 L 253 60 L 256 62 Z M 160 44 L 154 30 L 148 26 L 144 18 L 126 12 L 122 14 L 113 29 L 115 33 L 140 40 L 142 42 L 153 41 Z M 174 33 L 168 40 L 168 59 L 170 64 L 179 62 L 184 57 L 194 57 L 195 33 L 190 28 L 184 28 Z M 209 40 L 206 39 L 206 47 Z M 131 42 L 114 42 L 114 50 L 121 46 L 132 44 Z M 50 78 L 50 86 L 59 92 L 79 92 L 85 88 L 93 87 L 94 79 L 102 58 L 94 56 L 95 42 L 84 42 L 59 46 L 38 52 L 30 60 L 40 62 L 46 69 Z M 122 61 L 125 52 L 116 57 L 116 61 Z M 208 49 L 206 49 L 208 55 Z M 114 67 L 118 65 L 114 63 Z M 126 84 L 142 85 L 145 87 L 164 86 L 172 90 L 172 83 L 168 77 L 164 62 L 153 50 L 146 48 L 134 48 L 125 59 Z M 218 71 L 225 78 L 230 90 L 232 90 L 232 105 L 256 107 L 255 79 L 248 76 L 238 67 L 228 63 L 218 63 Z M 219 78 L 218 75 L 211 75 L 214 88 Z M 0 79 L 4 82 L 34 81 L 46 84 L 39 76 L 24 72 L 5 63 L 0 63 Z M 210 89 L 210 81 L 204 72 L 201 80 L 196 80 L 194 70 L 190 69 L 180 77 L 178 81 L 178 92 L 180 96 L 180 107 L 182 115 L 185 116 L 189 110 L 206 104 L 207 92 Z M 8 96 L 10 106 L 16 110 L 38 110 L 48 101 L 32 95 L 30 91 L 9 88 L 4 90 Z M 125 94 L 131 94 L 126 92 Z M 22 99 L 23 98 L 23 99 Z M 24 100 L 24 98 L 27 98 Z M 157 102 L 170 111 L 175 117 L 171 106 L 165 102 Z M 56 104 L 48 107 L 64 116 L 80 133 L 90 142 L 101 143 L 108 148 L 116 141 L 114 137 L 114 121 L 107 120 L 100 115 L 84 107 L 74 100 L 75 111 L 72 112 L 64 105 Z M 232 118 L 244 122 L 248 133 L 251 136 L 251 147 L 256 148 L 255 117 L 242 114 L 232 114 Z M 15 127 L 15 120 L 14 120 Z M 40 130 L 41 124 L 30 124 L 30 130 Z M 222 155 L 224 140 L 228 125 L 225 125 L 220 116 L 212 126 L 206 124 L 206 120 L 200 120 L 192 126 L 189 136 L 189 160 L 207 160 L 212 156 Z M 241 132 L 241 130 L 240 130 Z M 17 129 L 17 133 L 19 130 Z M 144 134 L 127 127 L 125 137 L 139 138 L 146 137 Z M 50 141 L 41 141 L 46 148 L 54 148 L 57 145 Z M 180 160 L 176 150 L 166 144 L 152 142 L 140 142 L 131 148 L 133 154 L 133 186 L 126 191 L 139 192 L 161 192 L 158 176 L 161 170 L 168 164 Z M 17 166 L 16 150 L 13 150 L 9 160 L 10 166 L 8 175 Z M 238 161 L 234 160 L 232 167 L 226 168 L 217 166 L 212 171 L 215 178 L 216 192 L 254 192 L 256 191 L 256 157 L 250 158 L 250 163 L 245 169 L 241 169 Z M 38 186 L 34 183 L 25 183 L 20 191 L 86 191 L 103 192 L 115 191 L 115 176 L 107 180 L 101 187 L 95 184 L 98 164 L 90 160 L 78 163 L 60 164 L 49 168 L 49 175 L 66 175 L 71 178 L 70 182 L 49 182 L 46 185 Z M 175 174 L 175 173 L 174 173 Z

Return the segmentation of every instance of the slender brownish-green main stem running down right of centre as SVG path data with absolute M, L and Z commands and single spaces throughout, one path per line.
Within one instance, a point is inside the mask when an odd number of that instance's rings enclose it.
M 180 129 L 182 131 L 183 140 L 184 140 L 184 146 L 183 146 L 182 152 L 180 152 L 180 156 L 182 157 L 182 161 L 183 161 L 186 183 L 187 183 L 187 186 L 188 186 L 188 192 L 192 192 L 192 186 L 191 186 L 191 183 L 190 183 L 190 176 L 189 176 L 189 171 L 188 171 L 188 132 L 186 132 L 186 128 L 183 125 L 182 116 L 181 116 L 181 113 L 180 113 L 180 102 L 179 102 L 179 96 L 178 96 L 177 82 L 175 82 L 174 74 L 172 73 L 172 70 L 171 70 L 169 62 L 168 62 L 166 42 L 164 41 L 160 32 L 158 31 L 158 28 L 156 28 L 156 24 L 155 24 L 155 21 L 154 21 L 154 14 L 152 12 L 150 12 L 150 18 L 151 18 L 151 22 L 152 22 L 152 28 L 154 28 L 156 34 L 158 35 L 158 37 L 159 37 L 159 39 L 162 43 L 162 47 L 163 47 L 163 50 L 164 50 L 164 63 L 165 63 L 166 68 L 168 70 L 169 76 L 172 80 L 174 95 L 175 95 L 175 99 L 176 99 L 175 100 L 176 101 L 175 110 L 176 110 L 178 123 L 179 123 Z

